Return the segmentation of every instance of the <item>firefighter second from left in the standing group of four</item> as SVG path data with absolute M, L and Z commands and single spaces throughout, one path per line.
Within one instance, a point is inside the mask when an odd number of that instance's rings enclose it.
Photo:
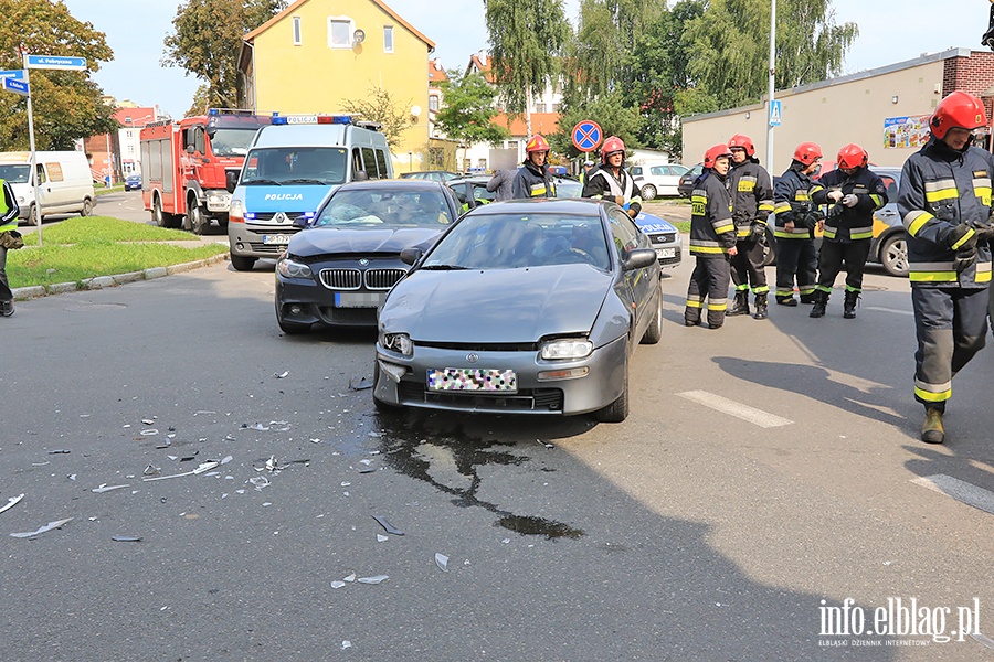
M 764 269 L 766 218 L 773 212 L 773 185 L 770 173 L 759 164 L 755 146 L 749 136 L 736 134 L 728 141 L 732 153 L 728 174 L 728 191 L 736 222 L 736 256 L 731 258 L 731 277 L 736 300 L 729 316 L 749 314 L 749 286 L 755 296 L 755 319 L 766 319 L 766 285 Z

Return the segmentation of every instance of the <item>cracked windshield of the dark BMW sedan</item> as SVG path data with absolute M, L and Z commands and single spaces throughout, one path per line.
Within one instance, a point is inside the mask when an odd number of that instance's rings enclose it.
M 383 188 L 339 190 L 328 199 L 315 227 L 435 227 L 454 218 L 438 189 L 398 191 Z

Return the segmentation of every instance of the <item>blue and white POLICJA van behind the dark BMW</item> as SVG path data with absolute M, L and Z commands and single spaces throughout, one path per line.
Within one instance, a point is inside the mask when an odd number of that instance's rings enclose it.
M 262 127 L 237 181 L 228 182 L 232 266 L 247 271 L 261 257 L 278 257 L 339 184 L 392 179 L 387 137 L 378 128 L 348 115 L 277 116 Z

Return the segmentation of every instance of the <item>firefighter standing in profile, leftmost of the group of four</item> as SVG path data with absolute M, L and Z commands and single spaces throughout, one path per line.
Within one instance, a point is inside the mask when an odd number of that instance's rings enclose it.
M 728 169 L 731 152 L 727 145 L 716 145 L 705 152 L 704 172 L 690 193 L 690 255 L 697 265 L 687 288 L 684 324 L 700 323 L 700 311 L 708 300 L 708 328 L 725 323 L 728 306 L 729 256 L 734 256 L 736 224 L 731 217 L 728 194 Z

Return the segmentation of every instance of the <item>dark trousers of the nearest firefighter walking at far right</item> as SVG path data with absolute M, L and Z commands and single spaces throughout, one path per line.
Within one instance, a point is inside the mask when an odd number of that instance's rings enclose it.
M 912 287 L 914 330 L 914 399 L 945 410 L 952 378 L 984 346 L 987 332 L 987 288 Z

